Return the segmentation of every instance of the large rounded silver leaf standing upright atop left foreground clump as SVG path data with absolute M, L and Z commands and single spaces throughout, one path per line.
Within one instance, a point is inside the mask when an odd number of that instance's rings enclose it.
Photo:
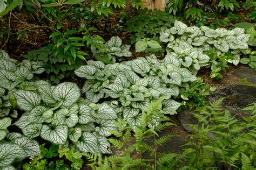
M 52 96 L 55 100 L 62 101 L 64 106 L 70 106 L 79 99 L 80 89 L 76 83 L 63 82 L 55 87 Z

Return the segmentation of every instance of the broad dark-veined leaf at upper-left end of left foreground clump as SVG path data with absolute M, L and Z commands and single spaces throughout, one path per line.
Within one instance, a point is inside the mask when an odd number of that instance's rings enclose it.
M 14 96 L 18 107 L 25 111 L 30 111 L 41 103 L 41 97 L 32 91 L 18 90 Z

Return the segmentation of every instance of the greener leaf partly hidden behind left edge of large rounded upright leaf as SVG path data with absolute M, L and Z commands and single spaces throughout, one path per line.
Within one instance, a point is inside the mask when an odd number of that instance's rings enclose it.
M 44 86 L 44 85 L 38 87 L 38 92 L 45 103 L 56 103 L 56 100 L 52 96 L 54 88 L 55 88 L 54 86 Z

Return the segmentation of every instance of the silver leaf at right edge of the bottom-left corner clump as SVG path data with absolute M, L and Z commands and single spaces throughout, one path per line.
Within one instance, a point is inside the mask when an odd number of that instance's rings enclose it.
M 22 136 L 14 140 L 15 144 L 18 144 L 23 148 L 25 153 L 29 155 L 38 156 L 41 154 L 39 143 L 36 140 L 29 139 L 28 137 Z

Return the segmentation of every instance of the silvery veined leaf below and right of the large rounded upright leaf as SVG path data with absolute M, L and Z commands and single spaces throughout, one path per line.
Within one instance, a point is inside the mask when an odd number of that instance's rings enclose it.
M 90 114 L 90 110 L 91 110 L 91 108 L 88 105 L 81 104 L 79 106 L 78 123 L 87 124 L 89 122 L 95 121 L 95 119 Z

